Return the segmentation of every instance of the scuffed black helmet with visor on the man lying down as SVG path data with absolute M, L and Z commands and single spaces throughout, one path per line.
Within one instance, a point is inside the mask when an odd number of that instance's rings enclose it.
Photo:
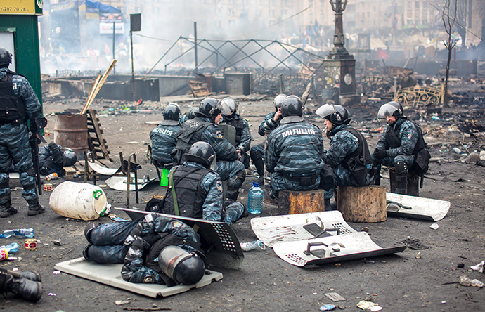
M 178 246 L 167 246 L 158 256 L 158 265 L 177 284 L 194 285 L 205 274 L 204 261 L 194 252 Z

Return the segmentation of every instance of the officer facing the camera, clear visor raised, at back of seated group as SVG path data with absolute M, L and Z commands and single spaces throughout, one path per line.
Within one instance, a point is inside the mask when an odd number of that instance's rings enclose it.
M 238 114 L 238 103 L 233 98 L 224 98 L 222 103 L 228 105 L 231 110 L 230 115 L 223 115 L 222 123 L 231 125 L 235 128 L 235 150 L 241 155 L 240 162 L 243 162 L 245 169 L 250 167 L 250 157 L 247 152 L 251 148 L 250 124 Z

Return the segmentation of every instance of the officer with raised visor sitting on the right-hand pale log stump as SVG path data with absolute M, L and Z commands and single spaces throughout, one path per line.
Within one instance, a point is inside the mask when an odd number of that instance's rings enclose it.
M 366 138 L 349 126 L 349 112 L 341 105 L 322 105 L 316 114 L 325 118 L 330 148 L 323 160 L 333 170 L 335 186 L 368 186 L 372 181 L 372 157 Z M 325 210 L 332 192 L 325 193 Z

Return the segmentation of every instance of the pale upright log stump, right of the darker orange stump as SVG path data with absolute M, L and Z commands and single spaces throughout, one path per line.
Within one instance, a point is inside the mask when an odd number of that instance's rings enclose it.
M 347 222 L 382 222 L 387 219 L 384 186 L 339 186 L 337 209 Z

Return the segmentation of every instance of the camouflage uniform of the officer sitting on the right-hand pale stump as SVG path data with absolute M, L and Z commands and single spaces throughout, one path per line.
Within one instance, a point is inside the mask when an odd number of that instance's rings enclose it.
M 359 145 L 358 138 L 351 134 L 346 129 L 349 128 L 347 124 L 340 124 L 332 129 L 328 134 L 331 138 L 330 148 L 325 153 L 323 160 L 325 164 L 329 164 L 333 169 L 333 178 L 335 186 L 356 186 L 356 181 L 351 172 L 344 168 L 342 162 L 347 155 L 353 153 Z M 372 176 L 367 174 L 366 185 L 370 183 Z M 325 198 L 332 197 L 332 192 L 325 192 Z

